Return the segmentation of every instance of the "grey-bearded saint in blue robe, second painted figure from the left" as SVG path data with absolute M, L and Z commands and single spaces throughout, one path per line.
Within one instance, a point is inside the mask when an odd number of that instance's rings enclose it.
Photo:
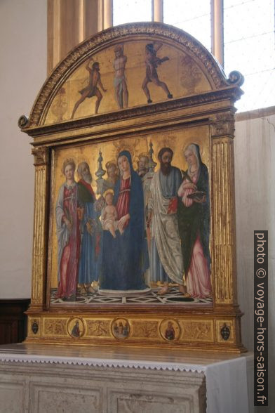
M 100 241 L 101 225 L 99 212 L 95 211 L 95 194 L 91 183 L 93 181 L 87 162 L 81 162 L 77 168 L 79 175 L 79 202 L 83 204 L 83 218 L 81 220 L 81 251 L 79 260 L 79 284 L 81 294 L 95 292 L 91 286 L 98 281 L 100 268 Z

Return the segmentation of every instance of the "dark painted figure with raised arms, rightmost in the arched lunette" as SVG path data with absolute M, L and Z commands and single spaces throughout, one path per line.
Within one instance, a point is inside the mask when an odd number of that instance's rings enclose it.
M 142 83 L 142 89 L 145 93 L 145 96 L 147 97 L 147 103 L 152 103 L 150 92 L 147 87 L 147 84 L 149 84 L 150 82 L 152 82 L 156 86 L 161 87 L 161 89 L 163 89 L 163 91 L 166 93 L 168 99 L 173 98 L 173 95 L 170 93 L 166 83 L 164 83 L 164 81 L 159 80 L 158 72 L 156 70 L 159 65 L 169 60 L 168 56 L 165 56 L 163 58 L 158 58 L 156 56 L 156 53 L 157 51 L 159 51 L 161 46 L 161 41 L 154 41 L 153 43 L 149 43 L 145 46 L 146 74 L 145 79 Z

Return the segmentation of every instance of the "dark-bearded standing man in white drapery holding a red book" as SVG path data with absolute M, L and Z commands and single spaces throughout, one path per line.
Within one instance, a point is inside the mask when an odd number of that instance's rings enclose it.
M 152 282 L 163 282 L 159 295 L 168 292 L 168 282 L 183 285 L 183 264 L 180 235 L 177 225 L 177 190 L 182 183 L 180 169 L 171 165 L 173 150 L 163 147 L 159 151 L 160 169 L 152 178 L 148 199 L 147 228 L 152 234 L 150 269 Z

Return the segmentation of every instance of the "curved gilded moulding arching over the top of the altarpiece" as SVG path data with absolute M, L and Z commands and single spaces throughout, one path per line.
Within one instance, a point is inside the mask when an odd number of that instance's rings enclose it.
M 90 37 L 90 39 L 83 41 L 79 46 L 76 46 L 76 48 L 60 62 L 43 84 L 32 108 L 28 122 L 26 123 L 27 118 L 24 118 L 25 122 L 21 120 L 19 123 L 20 128 L 27 130 L 28 128 L 41 125 L 46 107 L 48 103 L 51 103 L 53 100 L 55 91 L 58 90 L 61 84 L 86 58 L 93 55 L 96 51 L 100 51 L 100 49 L 114 44 L 116 40 L 121 41 L 123 38 L 130 36 L 157 36 L 169 41 L 172 40 L 175 44 L 184 46 L 191 55 L 194 55 L 194 57 L 203 63 L 209 74 L 209 79 L 212 79 L 212 83 L 216 89 L 221 89 L 232 84 L 232 81 L 226 79 L 222 67 L 216 62 L 213 55 L 211 55 L 199 41 L 196 41 L 196 39 L 186 32 L 159 22 L 130 23 L 104 30 Z M 23 117 L 20 117 L 20 119 L 23 119 Z M 99 120 L 98 117 L 95 117 L 95 119 Z

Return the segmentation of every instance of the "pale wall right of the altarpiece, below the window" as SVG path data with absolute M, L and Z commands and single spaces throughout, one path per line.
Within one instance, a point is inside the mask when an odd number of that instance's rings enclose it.
M 245 84 L 243 84 L 245 89 Z M 275 108 L 274 108 L 275 109 Z M 238 303 L 244 315 L 241 333 L 244 346 L 253 351 L 254 329 L 254 230 L 269 231 L 269 388 L 274 383 L 275 348 L 275 114 L 236 122 L 235 187 Z M 275 110 L 273 110 L 273 113 Z M 241 116 L 241 115 L 239 115 Z M 269 391 L 269 407 L 257 412 L 273 412 L 274 392 Z M 272 407 L 273 406 L 273 407 Z

